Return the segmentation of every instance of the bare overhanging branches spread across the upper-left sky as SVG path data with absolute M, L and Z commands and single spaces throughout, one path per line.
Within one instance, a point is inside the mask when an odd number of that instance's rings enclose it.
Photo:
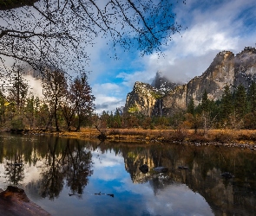
M 185 1 L 183 1 L 185 3 Z M 161 50 L 181 30 L 168 0 L 3 0 L 0 1 L 0 62 L 14 58 L 35 68 L 48 64 L 81 71 L 85 47 L 103 37 L 115 48 Z

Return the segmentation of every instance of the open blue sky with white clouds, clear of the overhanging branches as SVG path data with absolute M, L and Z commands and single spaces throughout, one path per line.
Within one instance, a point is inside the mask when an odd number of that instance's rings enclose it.
M 173 35 L 163 54 L 141 56 L 139 51 L 108 46 L 108 39 L 98 38 L 88 48 L 89 84 L 95 96 L 95 112 L 115 111 L 125 105 L 135 81 L 151 84 L 161 71 L 174 82 L 186 83 L 207 70 L 213 58 L 223 50 L 240 53 L 256 43 L 255 0 L 187 0 L 174 4 L 175 22 L 182 25 Z

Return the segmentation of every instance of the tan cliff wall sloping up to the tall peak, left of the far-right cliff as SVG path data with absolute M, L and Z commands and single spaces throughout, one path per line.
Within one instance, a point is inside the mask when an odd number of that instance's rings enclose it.
M 224 86 L 233 86 L 234 54 L 223 51 L 216 55 L 210 67 L 200 77 L 194 77 L 187 84 L 177 86 L 163 98 L 163 114 L 171 115 L 174 111 L 185 110 L 191 98 L 199 105 L 202 95 L 207 91 L 208 98 L 221 98 Z

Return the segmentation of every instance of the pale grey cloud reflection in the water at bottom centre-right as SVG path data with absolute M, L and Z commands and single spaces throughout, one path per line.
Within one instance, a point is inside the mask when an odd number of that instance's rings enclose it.
M 143 196 L 148 213 L 157 215 L 213 215 L 207 201 L 194 193 L 187 185 L 172 184 L 157 191 L 154 195 L 152 186 L 133 184 L 129 179 L 122 180 L 121 187 L 115 187 L 119 193 L 129 191 Z

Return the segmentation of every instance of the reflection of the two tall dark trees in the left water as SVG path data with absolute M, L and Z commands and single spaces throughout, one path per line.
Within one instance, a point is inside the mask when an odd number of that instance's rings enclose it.
M 53 200 L 62 191 L 64 179 L 72 194 L 82 194 L 91 175 L 91 153 L 83 149 L 80 143 L 70 143 L 67 139 L 55 138 L 48 144 L 49 150 L 45 157 L 41 195 Z

